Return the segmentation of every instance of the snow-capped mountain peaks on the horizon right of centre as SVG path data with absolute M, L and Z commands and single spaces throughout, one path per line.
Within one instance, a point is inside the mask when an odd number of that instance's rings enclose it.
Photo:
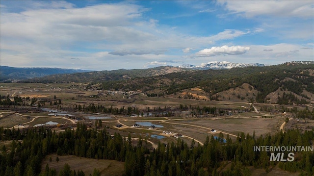
M 222 62 L 214 61 L 214 62 L 202 63 L 201 65 L 198 65 L 198 66 L 184 64 L 178 67 L 194 69 L 194 70 L 208 70 L 208 69 L 231 69 L 235 67 L 248 67 L 248 66 L 263 67 L 265 65 L 264 64 L 231 63 L 227 61 L 222 61 Z

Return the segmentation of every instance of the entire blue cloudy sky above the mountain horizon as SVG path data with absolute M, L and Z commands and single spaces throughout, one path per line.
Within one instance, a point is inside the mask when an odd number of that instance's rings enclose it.
M 145 69 L 314 61 L 313 0 L 0 1 L 0 65 Z

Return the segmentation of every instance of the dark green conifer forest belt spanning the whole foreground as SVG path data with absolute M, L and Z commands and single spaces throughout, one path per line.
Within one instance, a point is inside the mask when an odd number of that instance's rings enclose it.
M 224 138 L 226 143 L 222 140 Z M 260 137 L 255 133 L 241 133 L 235 141 L 220 133 L 218 139 L 208 137 L 204 146 L 194 141 L 186 144 L 179 138 L 176 143 L 159 143 L 153 151 L 145 147 L 145 140 L 139 140 L 133 146 L 130 135 L 122 137 L 115 133 L 112 136 L 105 129 L 87 129 L 85 125 L 78 125 L 76 131 L 66 129 L 60 133 L 44 127 L 23 131 L 1 127 L 0 140 L 13 140 L 9 149 L 2 147 L 0 152 L 0 174 L 3 176 L 38 175 L 41 161 L 47 154 L 55 152 L 58 155 L 125 161 L 127 176 L 250 176 L 248 166 L 268 172 L 277 164 L 289 172 L 301 172 L 301 175 L 308 176 L 314 174 L 313 151 L 298 151 L 293 162 L 279 163 L 270 161 L 270 152 L 253 151 L 254 146 L 313 146 L 314 130 L 304 133 L 288 130 Z M 230 167 L 226 169 L 226 165 Z M 69 170 L 65 166 L 62 172 Z M 44 173 L 46 171 L 51 170 L 46 167 Z M 53 171 L 49 173 L 57 175 Z M 60 171 L 59 174 L 64 173 Z

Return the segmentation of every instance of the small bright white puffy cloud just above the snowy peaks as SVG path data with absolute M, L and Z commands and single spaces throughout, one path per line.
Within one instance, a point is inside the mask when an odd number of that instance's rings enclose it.
M 242 46 L 228 47 L 227 45 L 225 45 L 222 47 L 211 47 L 210 49 L 200 50 L 196 52 L 195 55 L 199 57 L 210 57 L 210 56 L 221 55 L 221 54 L 237 55 L 237 54 L 244 54 L 248 50 L 250 50 L 250 47 L 242 47 Z

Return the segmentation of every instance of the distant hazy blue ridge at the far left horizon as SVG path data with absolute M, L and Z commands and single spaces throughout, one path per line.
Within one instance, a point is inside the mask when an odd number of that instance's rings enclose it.
M 81 72 L 90 72 L 89 70 L 60 69 L 60 68 L 17 68 L 0 66 L 0 81 L 9 81 L 13 79 L 29 79 L 53 74 L 73 74 Z

